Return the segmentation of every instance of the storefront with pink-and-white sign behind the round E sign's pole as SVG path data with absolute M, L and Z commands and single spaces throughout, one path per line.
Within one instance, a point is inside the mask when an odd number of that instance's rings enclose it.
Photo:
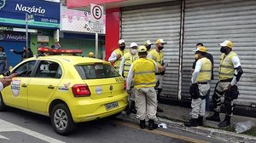
M 81 10 L 61 7 L 61 49 L 82 49 L 83 55 L 96 54 L 96 36 L 90 29 L 90 14 Z M 105 25 L 99 32 L 98 59 L 105 59 Z

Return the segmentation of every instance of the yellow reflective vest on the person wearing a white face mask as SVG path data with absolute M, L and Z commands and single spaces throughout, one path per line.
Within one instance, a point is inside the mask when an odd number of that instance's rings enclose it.
M 128 72 L 130 70 L 131 64 L 134 60 L 139 59 L 137 54 L 131 54 L 131 52 L 128 52 L 124 55 L 125 58 L 125 65 L 124 65 L 124 77 L 128 77 Z

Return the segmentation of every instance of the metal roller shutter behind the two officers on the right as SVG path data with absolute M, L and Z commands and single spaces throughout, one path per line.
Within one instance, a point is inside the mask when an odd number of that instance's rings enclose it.
M 241 59 L 244 74 L 238 83 L 238 105 L 256 102 L 256 1 L 254 0 L 186 0 L 183 44 L 183 98 L 189 96 L 191 65 L 195 43 L 204 43 L 214 58 L 211 93 L 218 80 L 220 47 L 224 40 L 233 42 L 233 50 Z

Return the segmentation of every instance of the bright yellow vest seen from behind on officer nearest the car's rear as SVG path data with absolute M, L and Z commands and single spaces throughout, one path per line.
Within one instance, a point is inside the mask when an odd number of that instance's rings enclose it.
M 151 59 L 140 58 L 132 63 L 134 87 L 149 88 L 155 86 L 155 65 Z

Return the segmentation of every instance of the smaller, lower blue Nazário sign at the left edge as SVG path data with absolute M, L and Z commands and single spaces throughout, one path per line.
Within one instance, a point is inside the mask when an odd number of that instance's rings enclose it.
M 26 33 L 16 31 L 3 31 L 0 32 L 0 42 L 1 41 L 26 42 Z

